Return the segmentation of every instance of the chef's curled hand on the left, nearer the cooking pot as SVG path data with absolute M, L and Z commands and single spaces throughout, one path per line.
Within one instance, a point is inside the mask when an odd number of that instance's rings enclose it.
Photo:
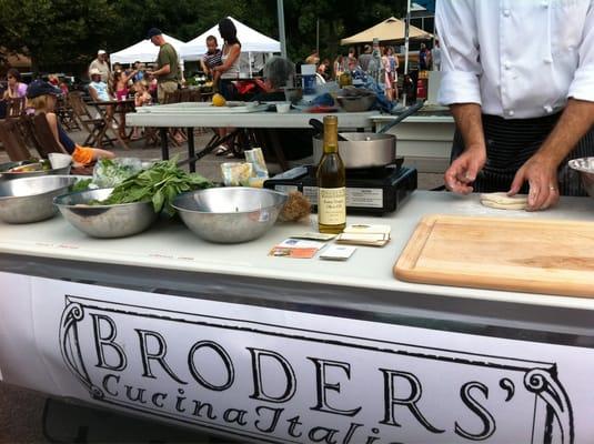
M 445 188 L 454 193 L 472 193 L 472 182 L 486 162 L 484 147 L 469 147 L 445 171 Z

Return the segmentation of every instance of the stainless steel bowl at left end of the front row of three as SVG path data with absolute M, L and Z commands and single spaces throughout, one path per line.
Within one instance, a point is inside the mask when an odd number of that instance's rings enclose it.
M 0 181 L 0 219 L 7 223 L 31 223 L 57 212 L 53 198 L 68 192 L 77 181 L 68 175 L 43 175 Z

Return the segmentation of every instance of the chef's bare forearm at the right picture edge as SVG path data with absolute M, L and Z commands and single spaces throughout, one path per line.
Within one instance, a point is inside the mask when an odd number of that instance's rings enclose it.
M 594 102 L 570 99 L 565 110 L 537 154 L 561 164 L 580 139 L 594 125 Z

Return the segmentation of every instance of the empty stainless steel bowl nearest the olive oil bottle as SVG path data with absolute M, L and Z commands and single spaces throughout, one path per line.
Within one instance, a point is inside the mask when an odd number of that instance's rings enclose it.
M 286 194 L 256 188 L 211 188 L 173 201 L 182 221 L 200 238 L 218 243 L 260 238 L 276 221 Z

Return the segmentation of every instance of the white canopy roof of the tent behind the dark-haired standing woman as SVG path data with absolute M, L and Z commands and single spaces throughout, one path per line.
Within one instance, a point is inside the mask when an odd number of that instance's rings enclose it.
M 266 37 L 242 22 L 229 17 L 238 29 L 238 39 L 241 42 L 241 52 L 280 52 L 281 43 L 270 37 Z M 221 34 L 219 33 L 219 24 L 215 24 L 208 31 L 201 33 L 195 39 L 190 40 L 183 44 L 180 50 L 180 56 L 184 60 L 199 60 L 207 52 L 207 37 L 214 36 L 219 41 L 219 47 L 222 47 Z

